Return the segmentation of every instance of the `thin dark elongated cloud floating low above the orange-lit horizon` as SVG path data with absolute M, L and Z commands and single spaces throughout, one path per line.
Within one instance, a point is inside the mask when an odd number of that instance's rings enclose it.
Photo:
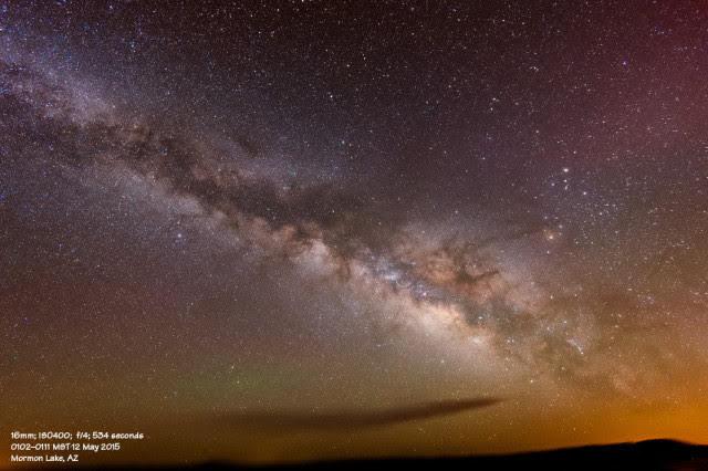
M 238 428 L 337 431 L 369 427 L 385 427 L 415 420 L 433 419 L 457 412 L 490 407 L 501 401 L 502 399 L 499 398 L 444 400 L 376 411 L 334 410 L 330 412 L 232 412 L 223 415 L 217 420 L 220 423 L 227 423 Z

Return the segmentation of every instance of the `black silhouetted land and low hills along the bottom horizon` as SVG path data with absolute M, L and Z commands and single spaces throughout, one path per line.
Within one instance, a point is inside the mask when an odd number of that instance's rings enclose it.
M 139 467 L 101 468 L 128 470 Z M 56 468 L 53 468 L 56 470 Z M 74 468 L 86 470 L 88 468 Z M 148 468 L 158 470 L 372 470 L 372 469 L 429 469 L 429 470 L 707 470 L 708 446 L 688 444 L 671 440 L 648 440 L 637 443 L 589 446 L 553 451 L 539 451 L 507 456 L 477 456 L 467 458 L 392 458 L 381 460 L 325 461 L 273 467 L 243 467 L 229 463 L 204 463 L 186 467 Z

